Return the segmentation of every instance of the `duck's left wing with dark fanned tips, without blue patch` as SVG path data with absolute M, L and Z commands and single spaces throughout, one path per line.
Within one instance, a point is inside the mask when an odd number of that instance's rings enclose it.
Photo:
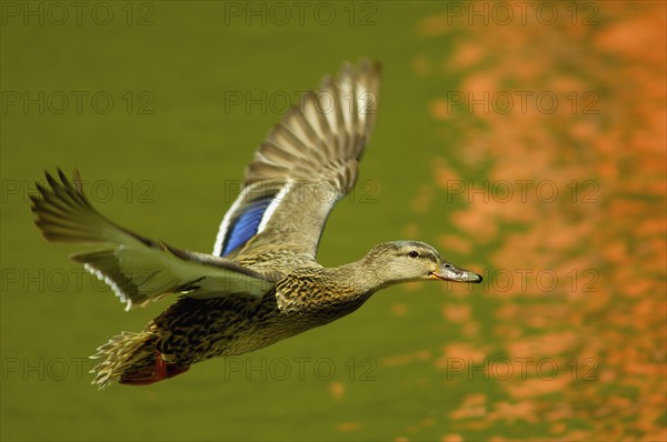
M 48 241 L 101 245 L 71 258 L 107 282 L 127 302 L 126 310 L 169 293 L 261 297 L 273 287 L 232 261 L 176 249 L 115 224 L 90 204 L 77 171 L 73 182 L 58 173 L 60 181 L 47 173 L 49 187 L 37 183 L 40 195 L 30 197 L 34 222 Z

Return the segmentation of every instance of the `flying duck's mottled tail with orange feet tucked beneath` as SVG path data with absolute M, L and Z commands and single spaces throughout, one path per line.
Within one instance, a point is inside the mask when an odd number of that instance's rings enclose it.
M 156 349 L 157 335 L 150 332 L 122 332 L 98 348 L 90 356 L 101 360 L 90 372 L 93 385 L 106 389 L 115 381 L 129 385 L 147 385 L 188 371 L 167 360 Z

